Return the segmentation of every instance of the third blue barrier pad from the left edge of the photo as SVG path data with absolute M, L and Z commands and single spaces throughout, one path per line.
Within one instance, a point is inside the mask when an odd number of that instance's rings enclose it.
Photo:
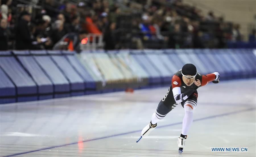
M 22 66 L 38 85 L 39 100 L 53 98 L 53 84 L 28 51 L 13 51 Z M 47 94 L 47 95 L 45 95 Z

